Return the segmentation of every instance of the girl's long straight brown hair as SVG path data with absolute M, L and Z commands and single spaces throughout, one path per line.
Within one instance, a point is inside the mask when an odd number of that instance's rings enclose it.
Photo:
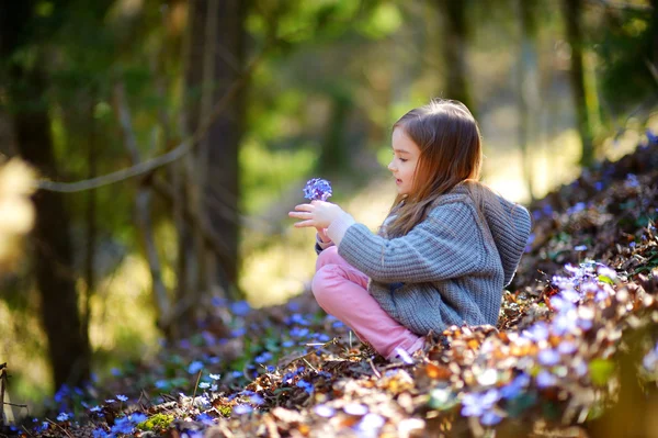
M 411 193 L 398 194 L 386 227 L 392 237 L 404 236 L 423 221 L 440 195 L 464 181 L 480 177 L 480 132 L 470 111 L 456 100 L 433 99 L 402 115 L 393 128 L 401 128 L 420 149 Z

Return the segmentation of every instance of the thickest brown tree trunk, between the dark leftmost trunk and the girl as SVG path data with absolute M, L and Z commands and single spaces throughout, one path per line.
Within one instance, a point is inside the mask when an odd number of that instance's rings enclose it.
M 234 294 L 238 280 L 239 162 L 243 131 L 245 92 L 214 114 L 215 104 L 243 75 L 246 2 L 191 0 L 184 54 L 185 101 L 183 134 L 209 126 L 193 157 L 173 170 L 179 229 L 179 285 L 175 336 L 184 336 L 200 316 L 204 295 Z M 211 122 L 212 121 L 212 122 Z M 208 125 L 208 122 L 209 125 Z M 213 248 L 200 229 L 182 223 L 179 205 L 188 209 L 217 237 Z M 220 251 L 220 254 L 217 254 Z

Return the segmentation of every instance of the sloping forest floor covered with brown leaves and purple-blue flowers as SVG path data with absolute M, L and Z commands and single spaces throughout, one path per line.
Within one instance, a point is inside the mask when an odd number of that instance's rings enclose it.
M 498 327 L 450 327 L 387 362 L 308 292 L 215 302 L 156 361 L 64 389 L 0 436 L 657 436 L 658 144 L 531 212 Z

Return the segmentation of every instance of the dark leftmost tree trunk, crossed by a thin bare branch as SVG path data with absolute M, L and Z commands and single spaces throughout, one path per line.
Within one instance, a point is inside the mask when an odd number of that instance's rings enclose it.
M 46 86 L 38 65 L 31 71 L 12 71 L 14 87 L 9 96 L 15 109 L 16 146 L 43 176 L 57 180 L 50 122 L 44 104 Z M 78 306 L 69 213 L 60 193 L 38 191 L 34 203 L 34 262 L 55 388 L 65 383 L 78 386 L 89 380 L 91 349 Z

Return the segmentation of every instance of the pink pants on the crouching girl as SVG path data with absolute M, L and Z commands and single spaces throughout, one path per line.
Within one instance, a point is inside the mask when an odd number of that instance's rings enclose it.
M 328 314 L 349 326 L 386 359 L 400 347 L 409 353 L 422 348 L 424 337 L 392 318 L 367 291 L 368 278 L 338 255 L 331 246 L 320 252 L 313 279 L 313 293 Z

